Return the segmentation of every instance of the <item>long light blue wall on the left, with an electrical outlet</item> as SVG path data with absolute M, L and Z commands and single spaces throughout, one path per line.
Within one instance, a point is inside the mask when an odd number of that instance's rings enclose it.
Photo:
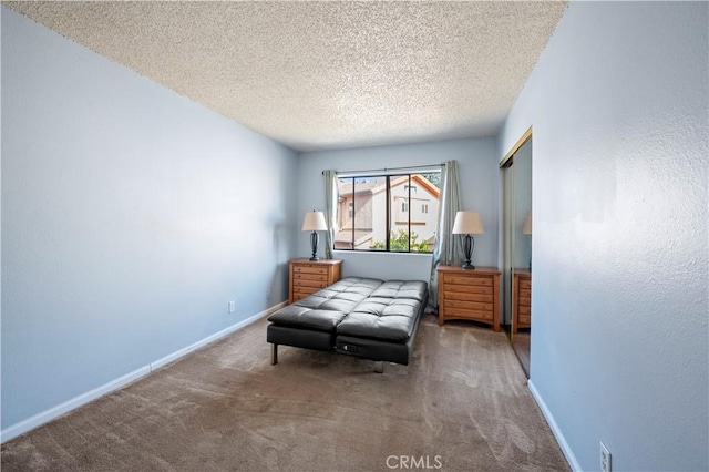
M 296 158 L 3 8 L 2 428 L 285 300 Z

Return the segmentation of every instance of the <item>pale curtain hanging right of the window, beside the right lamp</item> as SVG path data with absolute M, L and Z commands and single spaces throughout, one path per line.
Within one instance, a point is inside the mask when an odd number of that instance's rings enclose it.
M 461 209 L 461 194 L 458 186 L 458 162 L 446 161 L 442 172 L 442 192 L 439 201 L 439 222 L 435 230 L 435 247 L 431 261 L 429 280 L 429 305 L 439 306 L 439 264 L 452 265 L 463 259 L 463 243 L 452 235 L 455 214 Z

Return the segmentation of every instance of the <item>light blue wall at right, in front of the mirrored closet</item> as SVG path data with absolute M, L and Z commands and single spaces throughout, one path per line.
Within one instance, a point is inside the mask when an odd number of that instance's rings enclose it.
M 500 135 L 534 126 L 531 380 L 583 470 L 709 469 L 707 18 L 571 2 Z

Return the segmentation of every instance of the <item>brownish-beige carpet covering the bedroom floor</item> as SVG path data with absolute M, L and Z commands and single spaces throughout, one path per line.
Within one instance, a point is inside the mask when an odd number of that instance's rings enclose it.
M 2 445 L 2 471 L 568 470 L 504 334 L 423 317 L 410 366 L 266 320 Z M 404 466 L 405 465 L 405 466 Z

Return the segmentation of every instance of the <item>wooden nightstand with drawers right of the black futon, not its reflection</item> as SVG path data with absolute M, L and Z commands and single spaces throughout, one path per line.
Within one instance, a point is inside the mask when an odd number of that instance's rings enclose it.
M 500 270 L 439 266 L 439 325 L 446 319 L 470 319 L 500 331 Z

